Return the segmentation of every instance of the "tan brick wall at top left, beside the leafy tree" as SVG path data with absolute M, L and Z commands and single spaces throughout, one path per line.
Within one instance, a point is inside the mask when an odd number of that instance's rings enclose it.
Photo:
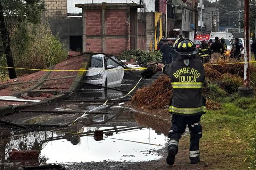
M 67 0 L 45 0 L 44 18 L 66 18 Z

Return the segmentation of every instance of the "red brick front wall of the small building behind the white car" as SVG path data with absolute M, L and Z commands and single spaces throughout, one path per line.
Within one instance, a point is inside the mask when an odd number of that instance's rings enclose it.
M 105 19 L 102 21 L 102 15 Z M 84 51 L 117 55 L 128 49 L 127 9 L 89 9 L 84 16 Z M 104 34 L 105 33 L 105 34 Z

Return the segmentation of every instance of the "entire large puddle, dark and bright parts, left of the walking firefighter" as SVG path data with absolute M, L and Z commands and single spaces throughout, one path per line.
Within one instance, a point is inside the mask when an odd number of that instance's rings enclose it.
M 31 132 L 0 143 L 1 162 L 8 160 L 6 152 L 12 149 L 38 150 L 40 163 L 146 161 L 161 157 L 155 151 L 166 145 L 167 137 L 162 133 L 168 131 L 168 123 L 123 107 L 108 108 L 104 112 L 110 114 L 90 115 L 68 128 Z M 51 119 L 58 115 L 47 116 L 46 119 Z M 93 125 L 88 126 L 91 123 Z

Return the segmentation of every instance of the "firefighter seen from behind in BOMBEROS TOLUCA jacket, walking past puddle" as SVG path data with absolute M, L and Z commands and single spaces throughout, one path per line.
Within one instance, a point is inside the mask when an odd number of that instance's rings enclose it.
M 188 125 L 190 132 L 189 159 L 191 164 L 200 162 L 199 139 L 202 137 L 201 115 L 205 113 L 205 99 L 202 97 L 204 67 L 196 60 L 197 50 L 191 40 L 183 38 L 175 45 L 178 58 L 165 65 L 162 70 L 171 78 L 173 96 L 169 112 L 172 126 L 168 133 L 168 156 L 166 162 L 174 164 L 178 143 Z

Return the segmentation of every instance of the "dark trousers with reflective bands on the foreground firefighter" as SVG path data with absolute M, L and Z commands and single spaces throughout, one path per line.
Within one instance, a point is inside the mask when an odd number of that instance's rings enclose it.
M 193 158 L 199 156 L 199 139 L 202 137 L 202 126 L 200 124 L 200 119 L 201 115 L 172 115 L 172 126 L 168 133 L 168 137 L 170 138 L 168 142 L 168 149 L 171 146 L 178 147 L 181 135 L 185 132 L 186 126 L 188 125 L 190 132 L 189 157 Z

